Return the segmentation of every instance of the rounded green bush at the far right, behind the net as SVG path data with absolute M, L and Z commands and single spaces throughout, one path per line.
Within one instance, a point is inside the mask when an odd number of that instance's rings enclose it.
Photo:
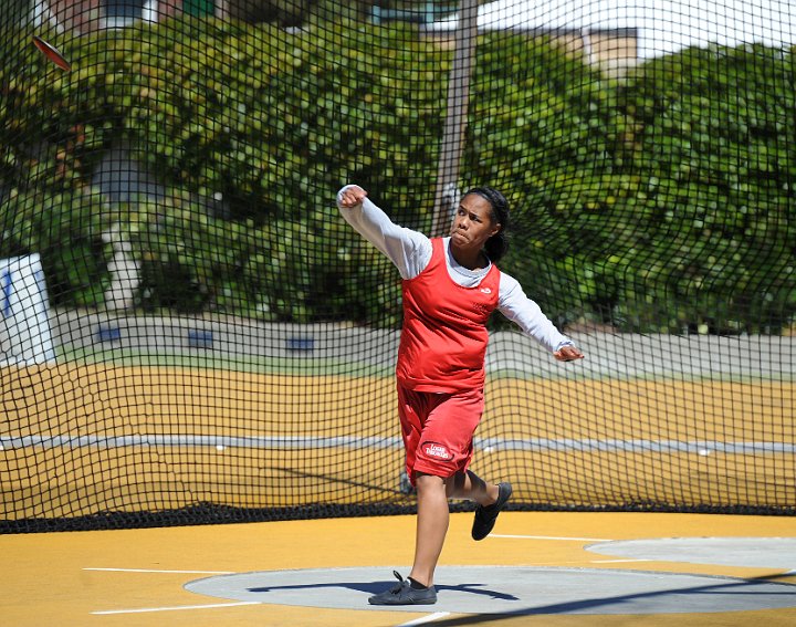
M 760 331 L 793 316 L 794 80 L 792 53 L 755 45 L 687 50 L 627 86 L 642 175 L 632 209 L 649 242 L 628 255 L 632 295 L 677 312 L 669 327 Z

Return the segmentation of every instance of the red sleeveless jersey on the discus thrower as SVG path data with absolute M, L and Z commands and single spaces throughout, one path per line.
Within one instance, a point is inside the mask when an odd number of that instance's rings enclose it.
M 486 321 L 498 309 L 500 270 L 493 264 L 476 288 L 463 288 L 448 274 L 442 239 L 432 239 L 431 244 L 428 267 L 402 282 L 404 328 L 396 377 L 416 391 L 482 388 Z

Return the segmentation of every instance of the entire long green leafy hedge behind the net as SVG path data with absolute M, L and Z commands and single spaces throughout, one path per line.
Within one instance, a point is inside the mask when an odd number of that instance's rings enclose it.
M 121 220 L 144 309 L 397 322 L 396 273 L 334 195 L 359 182 L 401 223 L 430 224 L 450 51 L 395 24 L 181 20 L 56 39 L 75 66 L 60 75 L 13 36 L 0 255 L 42 252 L 59 304 L 102 305 L 100 233 Z M 502 267 L 558 323 L 792 324 L 792 54 L 689 50 L 614 82 L 542 39 L 493 35 L 473 79 L 462 187 L 510 196 Z M 111 207 L 88 187 L 119 142 L 165 200 Z

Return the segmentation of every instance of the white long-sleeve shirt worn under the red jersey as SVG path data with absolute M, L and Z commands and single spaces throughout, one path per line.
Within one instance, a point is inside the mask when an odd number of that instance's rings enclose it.
M 394 223 L 369 198 L 350 208 L 339 205 L 339 192 L 337 199 L 337 207 L 345 220 L 387 255 L 398 268 L 402 279 L 413 279 L 429 264 L 432 248 L 428 237 Z M 463 288 L 478 286 L 492 268 L 492 262 L 479 270 L 464 268 L 450 250 L 450 238 L 443 238 L 442 241 L 450 278 Z M 551 352 L 572 344 L 544 315 L 540 306 L 525 295 L 520 282 L 505 272 L 501 272 L 498 310 Z

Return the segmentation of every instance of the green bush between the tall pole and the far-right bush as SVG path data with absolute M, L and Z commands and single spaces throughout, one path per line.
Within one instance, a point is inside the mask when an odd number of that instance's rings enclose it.
M 607 226 L 626 219 L 616 84 L 547 38 L 495 34 L 478 48 L 473 87 L 463 171 L 467 186 L 510 196 L 502 267 L 559 324 L 609 317 L 594 267 L 620 245 Z

